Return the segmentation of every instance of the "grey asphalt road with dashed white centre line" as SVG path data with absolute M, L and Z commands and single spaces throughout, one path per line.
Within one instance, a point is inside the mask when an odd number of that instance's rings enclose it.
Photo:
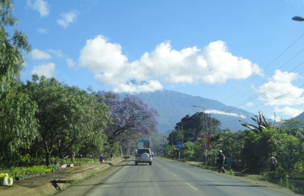
M 295 195 L 292 191 L 275 185 L 252 181 L 244 177 L 219 174 L 157 157 L 153 158 L 151 166 L 149 164 L 135 166 L 132 160 L 118 167 L 115 173 L 113 172 L 101 182 L 83 182 L 90 188 L 85 184 L 80 184 L 69 189 L 74 189 L 74 191 L 81 189 L 84 192 L 78 192 L 78 195 L 90 196 Z M 76 195 L 75 192 L 69 192 L 69 189 L 61 194 Z

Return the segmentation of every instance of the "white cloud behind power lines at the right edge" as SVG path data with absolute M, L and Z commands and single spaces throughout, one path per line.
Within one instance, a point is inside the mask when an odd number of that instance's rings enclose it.
M 292 85 L 292 80 L 299 77 L 298 73 L 282 72 L 275 70 L 274 76 L 268 83 L 260 86 L 257 95 L 259 99 L 271 106 L 299 105 L 304 103 L 302 93 L 304 89 Z

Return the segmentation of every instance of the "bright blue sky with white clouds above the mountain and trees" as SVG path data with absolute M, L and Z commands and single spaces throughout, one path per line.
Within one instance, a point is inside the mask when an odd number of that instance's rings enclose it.
M 37 73 L 95 91 L 174 90 L 272 118 L 304 110 L 304 22 L 291 20 L 302 0 L 14 3 L 14 28 L 32 46 L 24 82 Z

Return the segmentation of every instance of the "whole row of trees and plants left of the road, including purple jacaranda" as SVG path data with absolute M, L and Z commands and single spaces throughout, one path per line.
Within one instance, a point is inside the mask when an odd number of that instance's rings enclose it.
M 119 157 L 139 137 L 157 132 L 158 113 L 134 95 L 95 92 L 34 74 L 20 73 L 31 52 L 17 24 L 13 2 L 0 0 L 0 173 L 23 177 L 76 164 Z

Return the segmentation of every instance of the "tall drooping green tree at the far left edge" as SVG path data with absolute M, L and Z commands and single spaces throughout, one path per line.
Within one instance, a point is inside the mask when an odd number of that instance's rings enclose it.
M 5 32 L 5 26 L 17 23 L 12 10 L 11 0 L 0 0 L 0 153 L 6 161 L 12 161 L 19 147 L 28 148 L 36 134 L 36 104 L 19 81 L 26 61 L 22 52 L 29 53 L 30 45 L 19 30 L 12 37 Z

